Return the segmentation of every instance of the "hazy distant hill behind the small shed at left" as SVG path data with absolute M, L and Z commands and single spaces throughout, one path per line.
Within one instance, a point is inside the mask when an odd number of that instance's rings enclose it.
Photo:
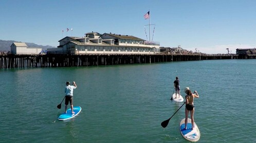
M 11 51 L 11 44 L 13 42 L 21 42 L 21 41 L 0 40 L 0 51 Z M 50 45 L 38 45 L 35 43 L 26 43 L 26 44 L 28 45 L 28 47 L 41 47 L 42 50 L 47 50 L 48 48 L 56 48 L 55 46 L 50 46 Z

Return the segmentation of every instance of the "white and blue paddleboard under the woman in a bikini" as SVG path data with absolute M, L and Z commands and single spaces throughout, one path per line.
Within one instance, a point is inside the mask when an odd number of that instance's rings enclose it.
M 188 118 L 188 124 L 187 124 L 187 130 L 185 130 L 185 118 L 182 119 L 179 123 L 179 130 L 181 135 L 189 140 L 189 141 L 197 141 L 200 139 L 200 131 L 197 127 L 197 125 L 194 122 L 194 128 L 193 130 L 192 128 L 192 124 L 191 124 L 191 119 Z

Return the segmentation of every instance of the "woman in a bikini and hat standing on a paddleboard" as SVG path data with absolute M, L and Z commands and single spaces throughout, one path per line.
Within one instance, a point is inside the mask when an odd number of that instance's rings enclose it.
M 199 98 L 199 95 L 197 93 L 197 91 L 194 91 L 194 93 L 191 92 L 191 90 L 189 90 L 189 87 L 185 88 L 185 93 L 187 94 L 185 96 L 186 99 L 186 108 L 185 108 L 185 114 L 186 114 L 186 118 L 185 118 L 185 130 L 187 129 L 187 124 L 188 124 L 188 116 L 189 116 L 189 112 L 191 115 L 191 124 L 192 124 L 192 130 L 194 128 L 194 112 L 195 112 L 195 108 L 194 108 L 194 98 Z

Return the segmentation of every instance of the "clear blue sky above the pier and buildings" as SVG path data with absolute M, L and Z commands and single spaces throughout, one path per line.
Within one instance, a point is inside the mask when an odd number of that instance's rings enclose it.
M 255 6 L 254 0 L 2 0 L 0 39 L 58 46 L 65 36 L 94 31 L 149 40 L 143 15 L 150 10 L 151 40 L 161 46 L 207 54 L 226 54 L 229 48 L 234 54 L 256 47 Z

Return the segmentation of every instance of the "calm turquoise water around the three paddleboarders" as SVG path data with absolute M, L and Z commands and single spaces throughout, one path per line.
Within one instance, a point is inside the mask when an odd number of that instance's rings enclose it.
M 189 142 L 179 133 L 182 105 L 170 100 L 197 90 L 198 142 L 255 142 L 256 60 L 205 60 L 99 67 L 1 69 L 0 142 Z M 74 105 L 64 112 L 66 81 L 76 81 Z M 185 96 L 183 92 L 182 96 Z

